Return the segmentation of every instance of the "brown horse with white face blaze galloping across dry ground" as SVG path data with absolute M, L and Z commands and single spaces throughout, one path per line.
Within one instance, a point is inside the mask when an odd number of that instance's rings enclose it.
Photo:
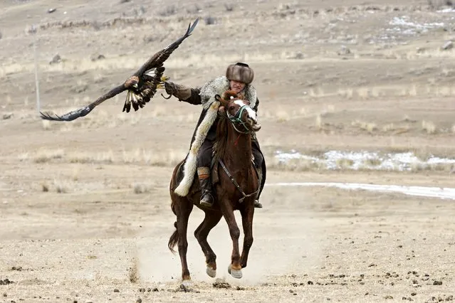
M 207 243 L 207 236 L 222 217 L 229 226 L 232 239 L 231 264 L 228 272 L 233 277 L 241 278 L 241 269 L 246 267 L 249 250 L 253 244 L 253 214 L 254 198 L 259 189 L 258 177 L 253 167 L 251 154 L 251 132 L 261 129 L 256 119 L 256 112 L 249 107 L 248 102 L 241 99 L 241 95 L 227 91 L 221 98 L 219 122 L 217 125 L 217 139 L 214 144 L 214 168 L 212 180 L 214 181 L 214 196 L 216 202 L 211 208 L 199 204 L 201 191 L 197 176 L 194 177 L 192 188 L 187 196 L 177 196 L 173 188 L 177 186 L 177 172 L 180 162 L 174 169 L 170 183 L 172 211 L 177 216 L 174 226 L 177 230 L 169 238 L 169 250 L 174 252 L 177 245 L 182 264 L 182 283 L 189 283 L 190 275 L 187 265 L 187 227 L 189 215 L 193 205 L 202 209 L 205 218 L 201 225 L 194 231 L 199 245 L 206 257 L 206 273 L 210 277 L 216 276 L 216 255 Z M 239 253 L 240 230 L 236 223 L 234 211 L 239 210 L 244 228 L 243 251 Z

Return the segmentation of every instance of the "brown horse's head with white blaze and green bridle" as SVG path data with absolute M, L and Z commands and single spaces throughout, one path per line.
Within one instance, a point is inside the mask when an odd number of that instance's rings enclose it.
M 223 97 L 216 95 L 215 99 L 221 103 L 221 107 L 224 107 L 221 112 L 226 113 L 226 117 L 232 122 L 237 132 L 258 132 L 261 129 L 256 112 L 250 107 L 249 102 L 244 100 L 243 95 L 227 90 Z

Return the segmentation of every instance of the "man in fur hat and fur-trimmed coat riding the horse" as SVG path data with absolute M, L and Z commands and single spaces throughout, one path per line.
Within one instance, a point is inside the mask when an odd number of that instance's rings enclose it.
M 180 196 L 186 196 L 192 185 L 192 176 L 197 171 L 201 186 L 201 205 L 211 207 L 214 203 L 213 188 L 211 186 L 210 166 L 212 148 L 216 139 L 216 125 L 218 123 L 218 107 L 216 107 L 215 95 L 223 95 L 226 90 L 241 92 L 250 102 L 255 112 L 258 110 L 259 100 L 256 97 L 256 89 L 251 85 L 254 72 L 246 63 L 231 64 L 226 69 L 226 75 L 209 81 L 202 87 L 191 88 L 166 81 L 164 88 L 169 95 L 177 97 L 179 101 L 188 102 L 192 105 L 202 105 L 203 110 L 197 127 L 194 130 L 191 147 L 184 164 L 184 177 L 174 192 Z M 218 105 L 219 106 L 219 105 Z M 266 164 L 263 154 L 256 139 L 256 134 L 251 134 L 251 147 L 253 162 L 258 170 L 260 190 L 256 196 L 254 206 L 262 208 L 258 199 L 261 195 L 263 184 L 266 179 Z M 197 169 L 196 169 L 197 168 Z

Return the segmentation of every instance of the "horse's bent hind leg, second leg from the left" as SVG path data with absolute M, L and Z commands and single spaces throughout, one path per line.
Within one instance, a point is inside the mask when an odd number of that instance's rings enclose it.
M 194 231 L 194 236 L 197 242 L 201 245 L 202 251 L 205 255 L 205 262 L 207 265 L 206 273 L 210 277 L 216 277 L 216 255 L 207 242 L 207 236 L 210 230 L 215 227 L 221 220 L 222 213 L 219 211 L 205 211 L 205 217 L 199 227 Z

